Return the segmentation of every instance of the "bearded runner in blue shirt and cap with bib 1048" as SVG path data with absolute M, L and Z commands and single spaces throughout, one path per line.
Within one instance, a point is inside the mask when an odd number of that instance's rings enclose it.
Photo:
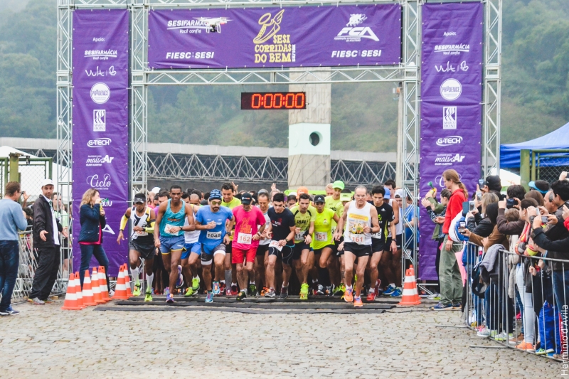
M 203 206 L 196 215 L 196 229 L 200 230 L 201 267 L 203 281 L 206 282 L 206 303 L 213 301 L 214 294 L 220 294 L 220 278 L 223 277 L 225 262 L 225 245 L 229 243 L 229 235 L 233 228 L 233 213 L 221 205 L 221 192 L 218 189 L 211 191 L 209 206 Z M 211 262 L 213 261 L 215 274 L 213 289 L 211 283 Z M 223 293 L 223 292 L 221 292 Z

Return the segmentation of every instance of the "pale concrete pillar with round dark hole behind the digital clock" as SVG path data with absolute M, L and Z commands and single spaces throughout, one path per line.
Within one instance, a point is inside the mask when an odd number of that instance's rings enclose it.
M 295 69 L 298 70 L 298 69 Z M 310 74 L 291 73 L 291 78 L 325 79 L 329 68 L 307 68 Z M 306 186 L 324 190 L 330 182 L 331 84 L 289 85 L 291 92 L 306 92 L 306 110 L 289 110 L 289 188 Z

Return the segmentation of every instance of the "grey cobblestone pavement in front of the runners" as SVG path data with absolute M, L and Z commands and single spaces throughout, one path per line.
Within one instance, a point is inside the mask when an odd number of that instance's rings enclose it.
M 561 378 L 562 364 L 478 338 L 457 311 L 62 311 L 0 318 L 2 378 Z M 472 348 L 470 346 L 494 348 Z M 158 376 L 160 375 L 160 376 Z

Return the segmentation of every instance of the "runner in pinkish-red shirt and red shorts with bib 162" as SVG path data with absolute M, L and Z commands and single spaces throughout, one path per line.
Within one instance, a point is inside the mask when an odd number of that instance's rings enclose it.
M 265 230 L 265 215 L 251 203 L 251 194 L 245 192 L 241 196 L 241 205 L 233 208 L 235 240 L 233 240 L 231 263 L 237 265 L 237 279 L 240 288 L 240 292 L 237 295 L 238 300 L 243 300 L 247 297 L 247 284 L 250 277 L 253 278 L 252 296 L 255 296 L 255 292 L 257 292 L 253 262 L 257 255 L 259 240 L 262 238 L 262 233 Z M 260 228 L 257 225 L 260 225 Z

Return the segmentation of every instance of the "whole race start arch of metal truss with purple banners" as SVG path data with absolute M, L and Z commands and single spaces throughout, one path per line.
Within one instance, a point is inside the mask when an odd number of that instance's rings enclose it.
M 115 240 L 132 194 L 147 188 L 151 85 L 394 82 L 398 185 L 416 199 L 453 168 L 472 188 L 499 164 L 501 2 L 58 0 L 57 175 L 72 188 L 73 250 L 93 187 L 110 274 L 127 260 Z M 404 256 L 432 279 L 422 264 L 432 249 L 418 256 L 418 227 L 405 226 Z

